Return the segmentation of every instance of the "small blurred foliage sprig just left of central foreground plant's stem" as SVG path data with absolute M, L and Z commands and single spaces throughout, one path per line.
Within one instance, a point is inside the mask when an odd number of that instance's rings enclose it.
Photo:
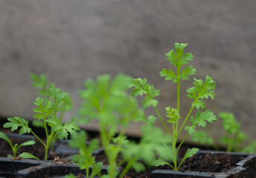
M 93 139 L 89 142 L 89 145 L 86 144 L 87 135 L 85 131 L 80 131 L 80 133 L 75 133 L 71 136 L 71 142 L 69 145 L 71 148 L 77 148 L 80 151 L 80 154 L 73 156 L 73 160 L 77 162 L 77 165 L 80 169 L 86 169 L 86 178 L 100 176 L 100 171 L 103 168 L 102 162 L 95 162 L 95 157 L 92 155 L 92 151 L 95 151 L 99 148 L 99 143 L 97 139 Z M 89 168 L 92 168 L 92 174 L 89 175 Z

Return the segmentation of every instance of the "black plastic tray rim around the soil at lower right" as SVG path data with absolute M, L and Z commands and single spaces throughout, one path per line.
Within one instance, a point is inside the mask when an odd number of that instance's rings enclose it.
M 234 160 L 236 160 L 236 164 L 234 168 L 225 171 L 225 172 L 199 172 L 199 171 L 171 171 L 171 170 L 155 170 L 152 172 L 152 178 L 187 178 L 187 177 L 195 177 L 195 178 L 203 178 L 203 177 L 248 177 L 254 178 L 256 176 L 256 155 L 255 154 L 238 154 L 238 153 L 228 153 L 225 151 L 199 151 L 196 156 L 204 156 L 206 154 L 230 154 Z M 240 160 L 243 158 L 242 160 Z

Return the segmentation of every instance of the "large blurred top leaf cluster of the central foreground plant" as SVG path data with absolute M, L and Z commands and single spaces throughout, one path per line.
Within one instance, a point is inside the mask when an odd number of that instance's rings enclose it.
M 138 109 L 136 99 L 127 94 L 129 79 L 129 76 L 119 74 L 114 79 L 101 75 L 96 82 L 86 80 L 86 90 L 80 91 L 83 104 L 78 112 L 78 121 L 87 124 L 97 119 L 101 125 L 113 131 L 118 125 L 126 128 L 130 121 L 140 119 L 143 111 Z

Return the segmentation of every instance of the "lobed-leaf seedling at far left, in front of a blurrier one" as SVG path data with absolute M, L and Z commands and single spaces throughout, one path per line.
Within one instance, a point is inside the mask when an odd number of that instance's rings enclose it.
M 60 88 L 51 87 L 49 88 L 48 98 L 37 97 L 34 102 L 36 108 L 33 108 L 33 111 L 36 114 L 33 117 L 39 121 L 42 120 L 45 128 L 46 142 L 43 142 L 42 139 L 32 131 L 28 126 L 27 120 L 19 116 L 8 118 L 9 122 L 4 124 L 4 128 L 11 128 L 10 131 L 19 129 L 19 134 L 32 133 L 45 147 L 45 160 L 47 160 L 48 149 L 56 139 L 67 139 L 69 133 L 73 134 L 75 131 L 80 130 L 75 122 L 65 122 L 65 125 L 61 122 L 60 113 L 65 111 L 65 105 L 63 105 L 62 102 L 65 96 L 65 93 L 63 93 Z

